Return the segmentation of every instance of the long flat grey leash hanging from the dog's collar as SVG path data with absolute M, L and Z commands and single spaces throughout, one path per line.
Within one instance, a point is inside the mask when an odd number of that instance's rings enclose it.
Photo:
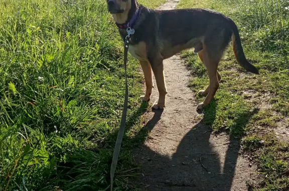
M 121 116 L 121 121 L 120 121 L 120 127 L 118 131 L 117 139 L 115 142 L 112 162 L 110 166 L 110 191 L 113 191 L 112 190 L 113 189 L 113 176 L 114 176 L 115 168 L 117 165 L 120 146 L 121 146 L 121 142 L 122 142 L 122 138 L 123 138 L 123 134 L 125 130 L 125 120 L 126 120 L 126 113 L 127 113 L 128 88 L 127 88 L 126 62 L 127 62 L 128 46 L 130 42 L 130 35 L 134 34 L 134 30 L 128 27 L 126 29 L 126 32 L 127 32 L 127 36 L 125 37 L 125 40 L 124 40 L 124 56 L 123 56 L 124 71 L 125 71 L 125 98 L 124 98 L 122 116 Z

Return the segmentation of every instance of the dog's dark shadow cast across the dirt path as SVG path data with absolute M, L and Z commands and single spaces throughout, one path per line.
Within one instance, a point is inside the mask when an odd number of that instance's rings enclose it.
M 216 141 L 220 145 L 214 143 L 213 139 L 226 137 L 223 136 L 226 132 L 219 132 L 219 137 L 211 133 L 216 110 L 215 107 L 210 109 L 210 112 L 205 112 L 204 119 L 211 124 L 205 125 L 201 120 L 192 126 L 172 157 L 162 155 L 145 144 L 135 150 L 135 160 L 142 166 L 143 174 L 136 179 L 136 187 L 140 187 L 140 190 L 231 190 L 239 156 L 239 139 L 230 137 L 226 142 Z M 242 124 L 237 125 L 246 125 L 250 116 L 256 112 L 249 115 L 244 113 L 240 116 L 241 120 L 235 119 L 236 124 L 242 121 Z M 152 131 L 162 113 L 162 110 L 155 111 L 153 118 L 142 130 Z

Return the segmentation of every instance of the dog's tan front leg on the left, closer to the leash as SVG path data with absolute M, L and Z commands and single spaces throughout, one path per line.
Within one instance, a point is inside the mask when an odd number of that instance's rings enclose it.
M 151 64 L 147 61 L 139 61 L 139 63 L 142 68 L 143 75 L 145 76 L 146 87 L 147 87 L 145 96 L 141 96 L 141 97 L 143 101 L 150 101 L 151 95 L 152 95 L 152 89 L 154 87 L 152 67 L 151 67 Z

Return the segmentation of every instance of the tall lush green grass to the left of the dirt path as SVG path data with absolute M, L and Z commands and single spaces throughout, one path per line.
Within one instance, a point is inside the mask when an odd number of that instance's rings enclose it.
M 105 1 L 0 0 L 0 190 L 108 187 L 124 100 L 122 54 Z M 129 139 L 145 109 L 138 70 L 129 57 L 124 148 L 143 140 Z M 135 173 L 126 150 L 115 190 L 130 189 Z

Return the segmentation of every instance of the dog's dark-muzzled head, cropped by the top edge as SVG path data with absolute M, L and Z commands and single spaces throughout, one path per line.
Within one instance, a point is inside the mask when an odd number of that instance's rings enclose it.
M 129 11 L 132 0 L 106 0 L 107 10 L 111 14 L 122 14 Z

